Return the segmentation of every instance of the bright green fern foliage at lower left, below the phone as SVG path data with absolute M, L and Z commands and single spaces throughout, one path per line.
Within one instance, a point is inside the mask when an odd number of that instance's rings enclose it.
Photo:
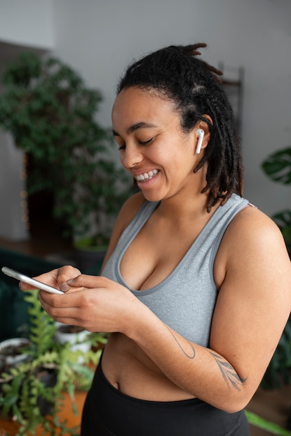
M 56 428 L 62 434 L 77 434 L 77 429 L 68 429 L 58 420 L 63 393 L 70 394 L 72 410 L 77 412 L 74 391 L 91 386 L 107 335 L 91 334 L 95 349 L 99 346 L 97 351 L 72 350 L 70 343 L 54 340 L 56 324 L 42 310 L 36 290 L 27 292 L 25 299 L 29 304 L 29 344 L 20 350 L 25 359 L 6 367 L 0 375 L 0 412 L 19 423 L 19 436 L 33 433 L 38 425 L 49 435 L 56 435 Z M 50 419 L 45 416 L 47 405 Z

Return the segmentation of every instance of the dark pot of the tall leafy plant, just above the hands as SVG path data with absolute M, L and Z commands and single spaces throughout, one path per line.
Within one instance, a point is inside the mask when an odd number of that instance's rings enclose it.
M 75 260 L 81 271 L 95 266 L 99 272 L 107 252 L 107 245 L 96 246 L 92 241 L 93 238 L 84 238 L 74 242 Z

